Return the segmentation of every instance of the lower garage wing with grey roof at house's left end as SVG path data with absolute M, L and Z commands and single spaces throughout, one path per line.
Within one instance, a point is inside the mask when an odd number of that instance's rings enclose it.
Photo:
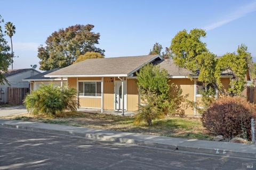
M 38 75 L 31 76 L 28 78 L 23 79 L 23 81 L 27 81 L 30 83 L 30 92 L 37 90 L 42 84 L 49 85 L 49 84 L 54 84 L 55 86 L 61 86 L 61 77 L 44 77 L 44 75 L 47 75 L 53 71 L 57 71 L 60 68 L 54 68 L 49 71 L 42 72 Z M 62 78 L 62 83 L 67 84 L 67 78 Z

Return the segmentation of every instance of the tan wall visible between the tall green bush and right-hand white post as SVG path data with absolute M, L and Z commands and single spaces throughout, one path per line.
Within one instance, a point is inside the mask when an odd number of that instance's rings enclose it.
M 188 100 L 194 101 L 194 80 L 188 78 L 171 78 L 169 84 L 174 83 L 178 88 L 181 88 L 182 95 L 188 94 Z M 175 93 L 171 91 L 171 93 Z M 186 103 L 184 103 L 186 104 Z M 185 110 L 186 115 L 194 115 L 194 109 L 189 107 Z

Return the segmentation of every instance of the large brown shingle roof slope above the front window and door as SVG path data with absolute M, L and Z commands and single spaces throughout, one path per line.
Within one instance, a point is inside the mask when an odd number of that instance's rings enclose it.
M 47 74 L 47 77 L 57 76 L 100 76 L 100 75 L 123 75 L 129 76 L 133 71 L 143 65 L 160 59 L 159 55 L 126 56 L 103 59 L 87 59 L 72 64 L 68 67 Z

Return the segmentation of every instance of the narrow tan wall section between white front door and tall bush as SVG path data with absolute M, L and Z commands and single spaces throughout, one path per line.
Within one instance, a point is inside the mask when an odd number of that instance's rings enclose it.
M 127 79 L 127 111 L 136 111 L 139 109 L 139 91 L 136 80 Z

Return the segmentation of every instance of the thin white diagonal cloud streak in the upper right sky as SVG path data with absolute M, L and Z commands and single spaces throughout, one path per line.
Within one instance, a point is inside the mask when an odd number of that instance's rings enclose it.
M 249 14 L 251 12 L 256 11 L 256 1 L 250 3 L 250 4 L 246 4 L 244 6 L 239 7 L 236 11 L 230 13 L 229 15 L 227 15 L 226 17 L 224 17 L 223 19 L 217 21 L 217 22 L 213 22 L 210 25 L 204 27 L 205 30 L 212 30 L 218 27 L 221 27 L 229 22 L 232 22 L 234 20 L 237 20 L 239 18 L 245 17 L 246 14 Z

